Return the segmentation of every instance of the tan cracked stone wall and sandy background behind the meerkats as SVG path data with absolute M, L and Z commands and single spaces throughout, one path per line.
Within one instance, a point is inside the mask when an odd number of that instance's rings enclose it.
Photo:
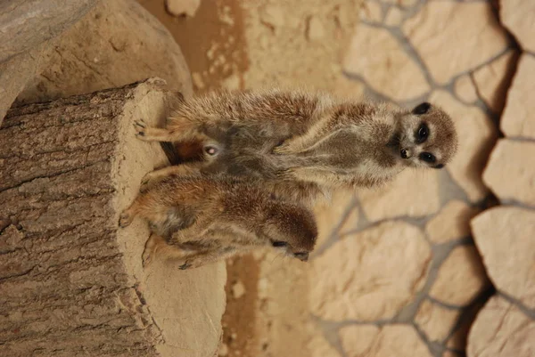
M 535 355 L 533 2 L 207 4 L 190 28 L 168 20 L 178 38 L 199 23 L 205 53 L 183 46 L 198 92 L 304 85 L 407 107 L 434 101 L 460 136 L 444 170 L 318 205 L 309 264 L 271 251 L 229 260 L 219 355 Z M 229 35 L 210 42 L 202 22 L 218 20 Z

